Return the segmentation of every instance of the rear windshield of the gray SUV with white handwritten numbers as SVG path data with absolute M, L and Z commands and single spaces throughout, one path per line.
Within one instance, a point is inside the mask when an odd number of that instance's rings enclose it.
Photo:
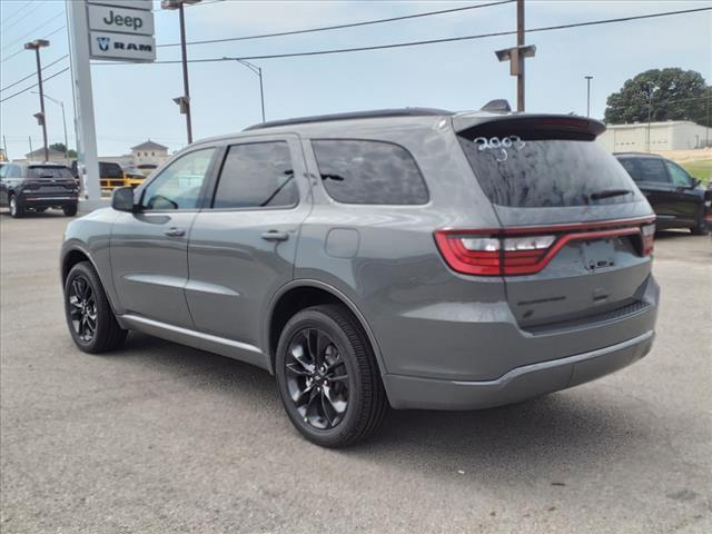
M 476 129 L 458 135 L 493 204 L 555 208 L 641 200 L 627 172 L 599 142 L 557 139 L 553 132 L 542 137 L 526 131 L 478 137 Z

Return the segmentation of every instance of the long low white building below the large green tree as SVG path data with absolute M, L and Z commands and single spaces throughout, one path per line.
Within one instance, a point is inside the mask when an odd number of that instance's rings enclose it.
M 712 142 L 710 128 L 689 120 L 665 122 L 635 122 L 607 125 L 599 141 L 610 152 L 657 152 L 660 150 L 689 150 Z

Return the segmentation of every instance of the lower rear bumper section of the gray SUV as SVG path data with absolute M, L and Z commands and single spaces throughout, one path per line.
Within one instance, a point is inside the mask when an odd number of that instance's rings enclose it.
M 397 409 L 479 409 L 512 404 L 614 373 L 645 356 L 654 332 L 574 356 L 514 368 L 494 380 L 461 382 L 384 375 L 390 405 Z

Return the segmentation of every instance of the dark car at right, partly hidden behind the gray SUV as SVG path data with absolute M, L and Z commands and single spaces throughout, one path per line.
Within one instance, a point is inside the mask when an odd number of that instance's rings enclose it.
M 657 215 L 657 229 L 690 228 L 695 235 L 710 231 L 706 215 L 712 202 L 700 180 L 661 156 L 637 152 L 614 156 L 647 197 Z

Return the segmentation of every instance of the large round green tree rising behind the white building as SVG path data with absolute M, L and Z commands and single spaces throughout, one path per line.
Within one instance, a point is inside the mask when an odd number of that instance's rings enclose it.
M 663 120 L 691 120 L 712 126 L 708 87 L 700 72 L 652 69 L 626 80 L 606 100 L 604 121 L 613 125 Z M 650 115 L 649 115 L 650 113 Z

